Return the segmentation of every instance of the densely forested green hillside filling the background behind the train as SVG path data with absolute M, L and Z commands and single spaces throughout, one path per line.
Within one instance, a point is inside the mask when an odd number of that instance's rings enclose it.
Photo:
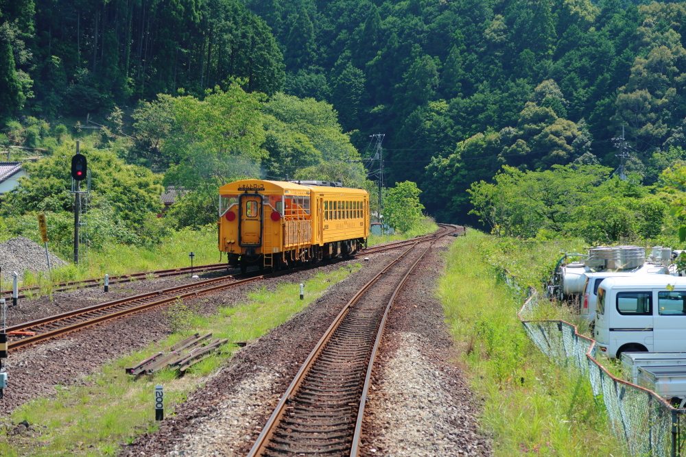
M 372 189 L 384 134 L 385 187 L 416 182 L 428 214 L 497 232 L 483 205 L 498 173 L 590 166 L 592 189 L 627 174 L 641 195 L 665 188 L 686 159 L 685 32 L 685 3 L 622 0 L 0 0 L 0 142 L 51 153 L 93 133 L 205 189 L 193 205 L 209 211 L 212 186 L 246 175 Z M 196 128 L 230 123 L 229 101 L 248 127 L 230 145 Z M 523 232 L 541 228 L 576 230 Z

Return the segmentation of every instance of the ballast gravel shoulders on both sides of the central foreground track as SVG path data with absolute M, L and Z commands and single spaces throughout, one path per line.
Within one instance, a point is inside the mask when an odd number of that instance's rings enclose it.
M 364 456 L 491 456 L 477 428 L 480 405 L 451 363 L 453 343 L 434 290 L 444 238 L 399 294 L 386 328 L 366 408 Z M 236 354 L 178 415 L 141 436 L 120 457 L 246 456 L 301 363 L 343 304 L 399 254 L 378 254 L 363 277 L 327 294 Z M 357 273 L 359 275 L 359 273 Z M 330 308 L 327 310 L 327 308 Z M 307 331 L 303 331 L 307 329 Z

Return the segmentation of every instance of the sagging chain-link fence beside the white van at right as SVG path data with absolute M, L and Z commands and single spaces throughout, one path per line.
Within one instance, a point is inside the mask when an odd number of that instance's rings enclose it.
M 578 334 L 565 321 L 533 320 L 539 306 L 538 291 L 519 310 L 528 336 L 557 365 L 576 367 L 589 376 L 593 395 L 602 398 L 612 430 L 626 441 L 631 456 L 684 456 L 686 409 L 672 408 L 656 393 L 615 378 L 595 360 L 595 341 Z

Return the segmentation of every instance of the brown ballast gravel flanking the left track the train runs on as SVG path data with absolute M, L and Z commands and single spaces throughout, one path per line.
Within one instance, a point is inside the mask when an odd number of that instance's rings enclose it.
M 358 261 L 351 260 L 350 262 L 354 264 Z M 200 314 L 209 315 L 215 313 L 220 306 L 244 303 L 247 299 L 246 294 L 250 291 L 262 287 L 274 290 L 281 283 L 304 282 L 320 271 L 339 269 L 347 263 L 336 262 L 268 280 L 239 284 L 224 291 L 201 295 L 196 299 L 187 299 L 185 303 L 191 306 L 197 304 Z M 377 263 L 379 260 L 374 259 L 364 262 L 366 267 Z M 209 273 L 209 275 L 212 274 L 215 273 Z M 353 276 L 366 277 L 366 273 L 362 270 L 353 273 Z M 110 286 L 108 294 L 105 294 L 102 288 L 85 288 L 55 293 L 52 300 L 50 297 L 33 300 L 20 299 L 19 306 L 8 308 L 8 325 L 91 306 L 115 298 L 197 281 L 187 276 L 169 277 L 114 284 Z M 45 343 L 10 351 L 9 357 L 4 360 L 9 378 L 8 388 L 4 391 L 5 396 L 0 401 L 0 426 L 14 409 L 29 400 L 55 395 L 56 386 L 88 384 L 88 376 L 97 373 L 99 367 L 106 362 L 165 338 L 170 331 L 164 310 L 164 307 L 152 308 Z M 239 351 L 238 354 L 241 352 Z M 238 357 L 240 358 L 239 355 Z

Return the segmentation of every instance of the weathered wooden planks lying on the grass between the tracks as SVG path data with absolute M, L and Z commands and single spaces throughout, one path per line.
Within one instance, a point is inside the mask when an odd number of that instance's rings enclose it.
M 228 343 L 226 338 L 212 338 L 211 333 L 203 336 L 196 333 L 170 346 L 166 351 L 158 352 L 137 365 L 127 368 L 126 373 L 134 376 L 150 375 L 165 368 L 186 371 L 200 360 L 211 356 L 218 347 L 226 343 Z

